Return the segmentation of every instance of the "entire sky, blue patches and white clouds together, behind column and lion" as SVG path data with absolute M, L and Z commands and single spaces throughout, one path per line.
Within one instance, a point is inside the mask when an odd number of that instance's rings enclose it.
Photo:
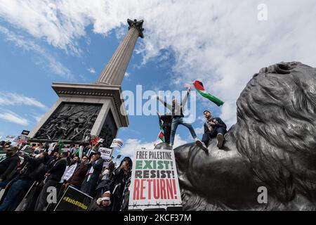
M 258 20 L 258 5 L 267 20 Z M 0 0 L 0 136 L 32 129 L 58 100 L 52 82 L 95 82 L 127 30 L 145 20 L 123 90 L 185 90 L 199 79 L 225 101 L 197 96 L 197 116 L 213 110 L 230 126 L 235 102 L 261 68 L 281 61 L 316 66 L 316 3 L 297 1 L 18 1 Z M 129 116 L 122 153 L 150 148 L 156 116 Z M 202 136 L 202 117 L 193 123 Z M 179 127 L 176 145 L 192 141 Z

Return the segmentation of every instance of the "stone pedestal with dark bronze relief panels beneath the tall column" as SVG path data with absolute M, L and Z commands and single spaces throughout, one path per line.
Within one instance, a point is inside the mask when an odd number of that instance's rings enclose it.
M 32 141 L 81 143 L 90 134 L 110 147 L 129 124 L 120 86 L 53 83 L 53 89 L 59 99 L 30 132 Z

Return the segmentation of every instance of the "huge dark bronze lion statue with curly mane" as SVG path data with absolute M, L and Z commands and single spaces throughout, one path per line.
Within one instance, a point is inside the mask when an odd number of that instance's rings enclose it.
M 278 63 L 237 100 L 225 146 L 174 150 L 183 210 L 316 209 L 316 69 Z M 267 202 L 259 203 L 259 187 Z

